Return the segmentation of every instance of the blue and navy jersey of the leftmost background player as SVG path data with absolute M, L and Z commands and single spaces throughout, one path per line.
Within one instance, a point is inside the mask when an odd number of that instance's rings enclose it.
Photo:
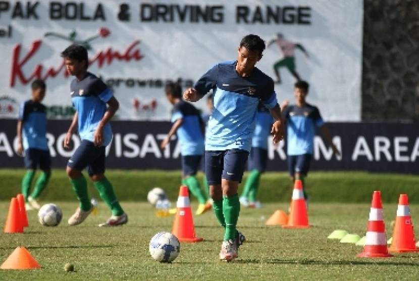
M 46 139 L 46 107 L 28 100 L 20 106 L 19 120 L 22 121 L 23 149 L 49 150 Z

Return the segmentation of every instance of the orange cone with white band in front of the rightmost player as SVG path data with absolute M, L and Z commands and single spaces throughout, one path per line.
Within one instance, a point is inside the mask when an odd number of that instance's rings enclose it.
M 307 206 L 305 205 L 304 194 L 302 191 L 302 181 L 295 180 L 294 190 L 292 191 L 291 211 L 288 223 L 282 225 L 283 228 L 309 228 Z

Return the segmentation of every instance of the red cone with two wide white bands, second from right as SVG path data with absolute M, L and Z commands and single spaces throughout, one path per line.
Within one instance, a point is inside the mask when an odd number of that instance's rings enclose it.
M 375 191 L 371 203 L 370 218 L 366 230 L 364 251 L 357 257 L 385 258 L 392 257 L 387 250 L 387 238 L 384 225 L 383 205 L 381 193 Z

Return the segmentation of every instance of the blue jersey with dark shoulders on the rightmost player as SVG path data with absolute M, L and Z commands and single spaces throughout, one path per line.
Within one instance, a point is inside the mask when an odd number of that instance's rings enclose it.
M 303 107 L 291 105 L 283 114 L 287 122 L 287 154 L 313 154 L 316 127 L 325 123 L 319 109 L 309 104 Z

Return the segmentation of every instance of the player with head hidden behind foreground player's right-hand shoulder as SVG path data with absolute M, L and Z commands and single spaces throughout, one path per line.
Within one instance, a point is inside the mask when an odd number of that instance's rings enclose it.
M 259 103 L 257 107 L 256 127 L 252 137 L 252 148 L 249 154 L 249 176 L 244 184 L 240 196 L 240 203 L 249 208 L 260 208 L 261 204 L 256 200 L 259 190 L 260 175 L 265 172 L 268 163 L 268 137 L 271 132 L 274 119 L 268 109 Z

